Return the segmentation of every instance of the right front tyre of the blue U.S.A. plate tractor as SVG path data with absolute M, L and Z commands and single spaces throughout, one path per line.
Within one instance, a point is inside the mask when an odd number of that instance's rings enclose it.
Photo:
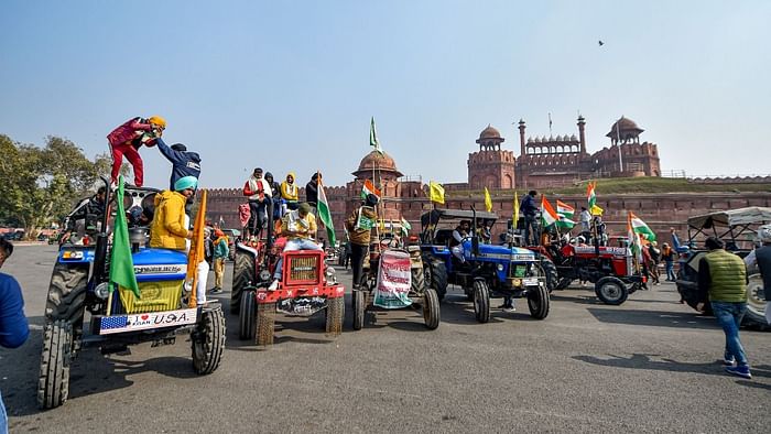
M 191 347 L 195 373 L 205 376 L 217 370 L 225 351 L 225 314 L 220 306 L 203 311 L 191 334 Z

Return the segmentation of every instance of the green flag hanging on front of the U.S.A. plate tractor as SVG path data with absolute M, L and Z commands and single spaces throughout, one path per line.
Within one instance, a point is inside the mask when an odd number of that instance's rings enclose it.
M 123 175 L 118 178 L 118 193 L 116 195 L 116 220 L 112 228 L 112 252 L 110 253 L 110 283 L 115 283 L 131 290 L 137 299 L 140 299 L 134 263 L 131 259 L 131 243 L 129 242 L 129 225 L 126 221 L 123 209 Z M 110 285 L 110 291 L 115 290 Z

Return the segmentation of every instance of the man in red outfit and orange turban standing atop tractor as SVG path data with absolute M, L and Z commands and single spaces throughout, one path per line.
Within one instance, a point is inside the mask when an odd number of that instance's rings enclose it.
M 154 147 L 155 140 L 166 129 L 166 120 L 160 116 L 151 116 L 148 119 L 131 118 L 107 135 L 112 153 L 112 185 L 118 182 L 120 166 L 123 164 L 123 155 L 134 170 L 134 185 L 141 187 L 144 182 L 144 164 L 139 155 L 139 149 L 146 144 Z

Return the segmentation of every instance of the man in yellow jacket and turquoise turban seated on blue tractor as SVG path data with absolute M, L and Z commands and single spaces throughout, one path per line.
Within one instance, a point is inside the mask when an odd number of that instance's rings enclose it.
M 189 250 L 193 231 L 188 230 L 191 218 L 185 214 L 185 203 L 195 195 L 198 180 L 184 176 L 174 183 L 174 191 L 164 191 L 155 195 L 155 215 L 150 227 L 150 247 L 173 250 Z M 209 264 L 205 260 L 196 269 L 196 301 L 206 303 L 206 280 Z

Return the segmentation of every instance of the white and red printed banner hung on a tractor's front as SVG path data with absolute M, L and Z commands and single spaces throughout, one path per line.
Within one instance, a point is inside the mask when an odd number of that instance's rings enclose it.
M 374 289 L 374 305 L 383 308 L 400 308 L 412 304 L 410 300 L 410 253 L 386 250 L 380 254 L 378 284 Z

